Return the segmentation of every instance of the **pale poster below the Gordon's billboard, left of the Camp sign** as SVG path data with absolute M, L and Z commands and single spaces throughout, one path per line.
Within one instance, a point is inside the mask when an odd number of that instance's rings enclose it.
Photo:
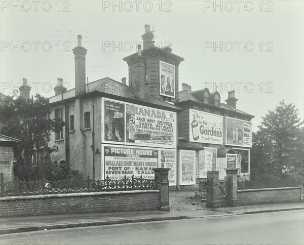
M 204 147 L 200 150 L 200 178 L 207 178 L 207 171 L 215 170 L 216 148 Z

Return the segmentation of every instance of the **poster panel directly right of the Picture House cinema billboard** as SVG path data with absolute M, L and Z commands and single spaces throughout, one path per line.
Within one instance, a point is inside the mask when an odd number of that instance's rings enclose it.
M 169 168 L 169 185 L 176 185 L 175 177 L 175 162 L 176 162 L 176 150 L 160 150 L 160 167 Z

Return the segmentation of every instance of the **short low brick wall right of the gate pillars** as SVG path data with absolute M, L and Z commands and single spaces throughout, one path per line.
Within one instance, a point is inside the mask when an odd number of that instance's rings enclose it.
M 238 190 L 239 205 L 258 203 L 299 202 L 301 200 L 300 187 L 268 188 Z

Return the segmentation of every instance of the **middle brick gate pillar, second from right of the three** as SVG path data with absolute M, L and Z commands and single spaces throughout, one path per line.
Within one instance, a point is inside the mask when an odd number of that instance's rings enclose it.
M 210 208 L 219 207 L 218 174 L 219 171 L 207 171 L 207 183 L 208 183 L 207 206 Z

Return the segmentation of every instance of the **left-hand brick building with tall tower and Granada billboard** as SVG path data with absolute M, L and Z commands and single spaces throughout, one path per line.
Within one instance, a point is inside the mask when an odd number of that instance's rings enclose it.
M 154 178 L 153 168 L 170 167 L 170 184 L 176 184 L 177 112 L 181 109 L 173 103 L 178 99 L 178 66 L 183 58 L 168 47 L 155 47 L 149 28 L 145 25 L 143 50 L 139 45 L 138 52 L 124 58 L 128 84 L 125 77 L 121 83 L 109 77 L 87 83 L 87 50 L 78 35 L 73 49 L 75 88 L 66 91 L 58 78 L 55 96 L 49 98 L 50 118 L 62 118 L 66 127 L 51 134 L 49 145 L 58 151 L 49 159 L 48 152 L 43 152 L 46 159 L 69 162 L 72 169 L 94 179 L 133 174 Z M 165 75 L 166 83 L 161 78 Z

